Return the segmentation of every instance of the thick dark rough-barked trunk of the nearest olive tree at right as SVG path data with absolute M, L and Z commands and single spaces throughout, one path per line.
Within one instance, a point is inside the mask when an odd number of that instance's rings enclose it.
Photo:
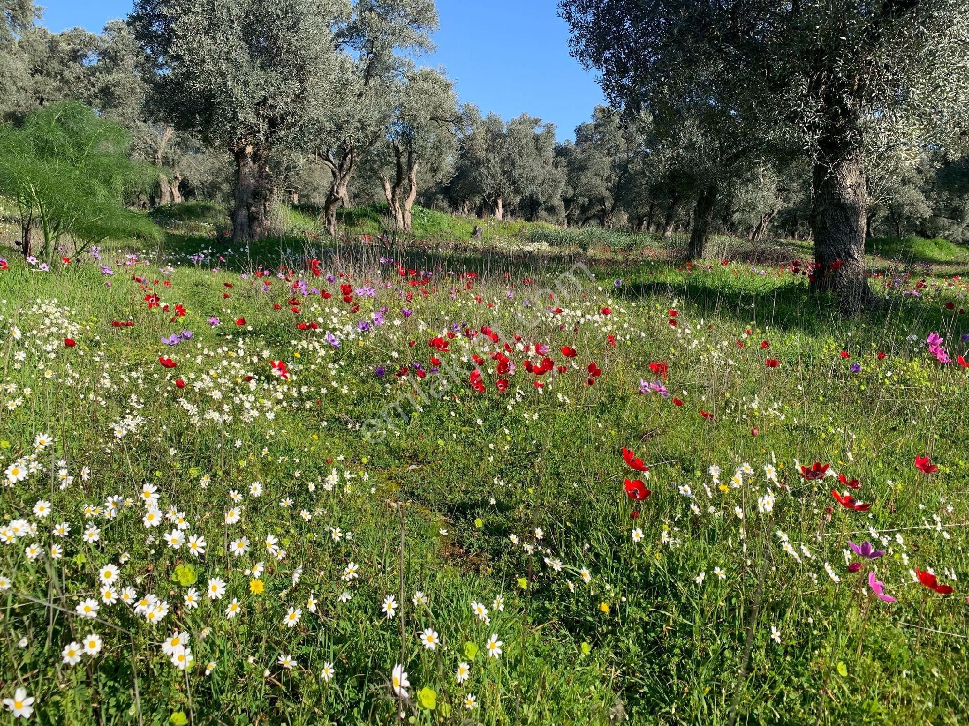
M 868 195 L 861 153 L 822 144 L 812 181 L 815 269 L 811 289 L 837 291 L 842 312 L 855 314 L 874 301 L 864 267 Z M 827 153 L 826 153 L 827 152 Z

